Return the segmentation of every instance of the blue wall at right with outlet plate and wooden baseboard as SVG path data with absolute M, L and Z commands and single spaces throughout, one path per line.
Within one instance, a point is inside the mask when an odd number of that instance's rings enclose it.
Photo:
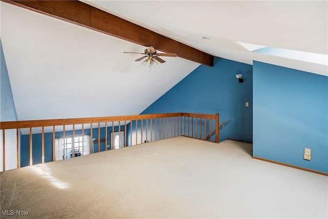
M 328 77 L 254 61 L 253 104 L 254 156 L 328 172 Z

